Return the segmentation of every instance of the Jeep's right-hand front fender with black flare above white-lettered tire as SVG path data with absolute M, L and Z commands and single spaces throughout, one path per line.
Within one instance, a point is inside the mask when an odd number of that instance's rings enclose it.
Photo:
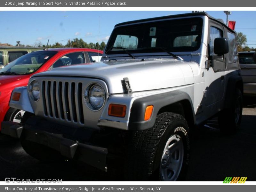
M 164 106 L 178 101 L 188 100 L 193 109 L 192 100 L 186 91 L 187 86 L 182 86 L 162 90 L 134 92 L 132 94 L 110 95 L 97 125 L 123 130 L 145 130 L 151 128 L 155 124 L 159 110 Z M 108 116 L 108 106 L 111 103 L 126 105 L 126 116 L 123 118 Z M 154 106 L 153 113 L 148 121 L 144 121 L 145 109 L 148 105 Z M 192 113 L 193 121 L 195 122 L 194 111 Z

